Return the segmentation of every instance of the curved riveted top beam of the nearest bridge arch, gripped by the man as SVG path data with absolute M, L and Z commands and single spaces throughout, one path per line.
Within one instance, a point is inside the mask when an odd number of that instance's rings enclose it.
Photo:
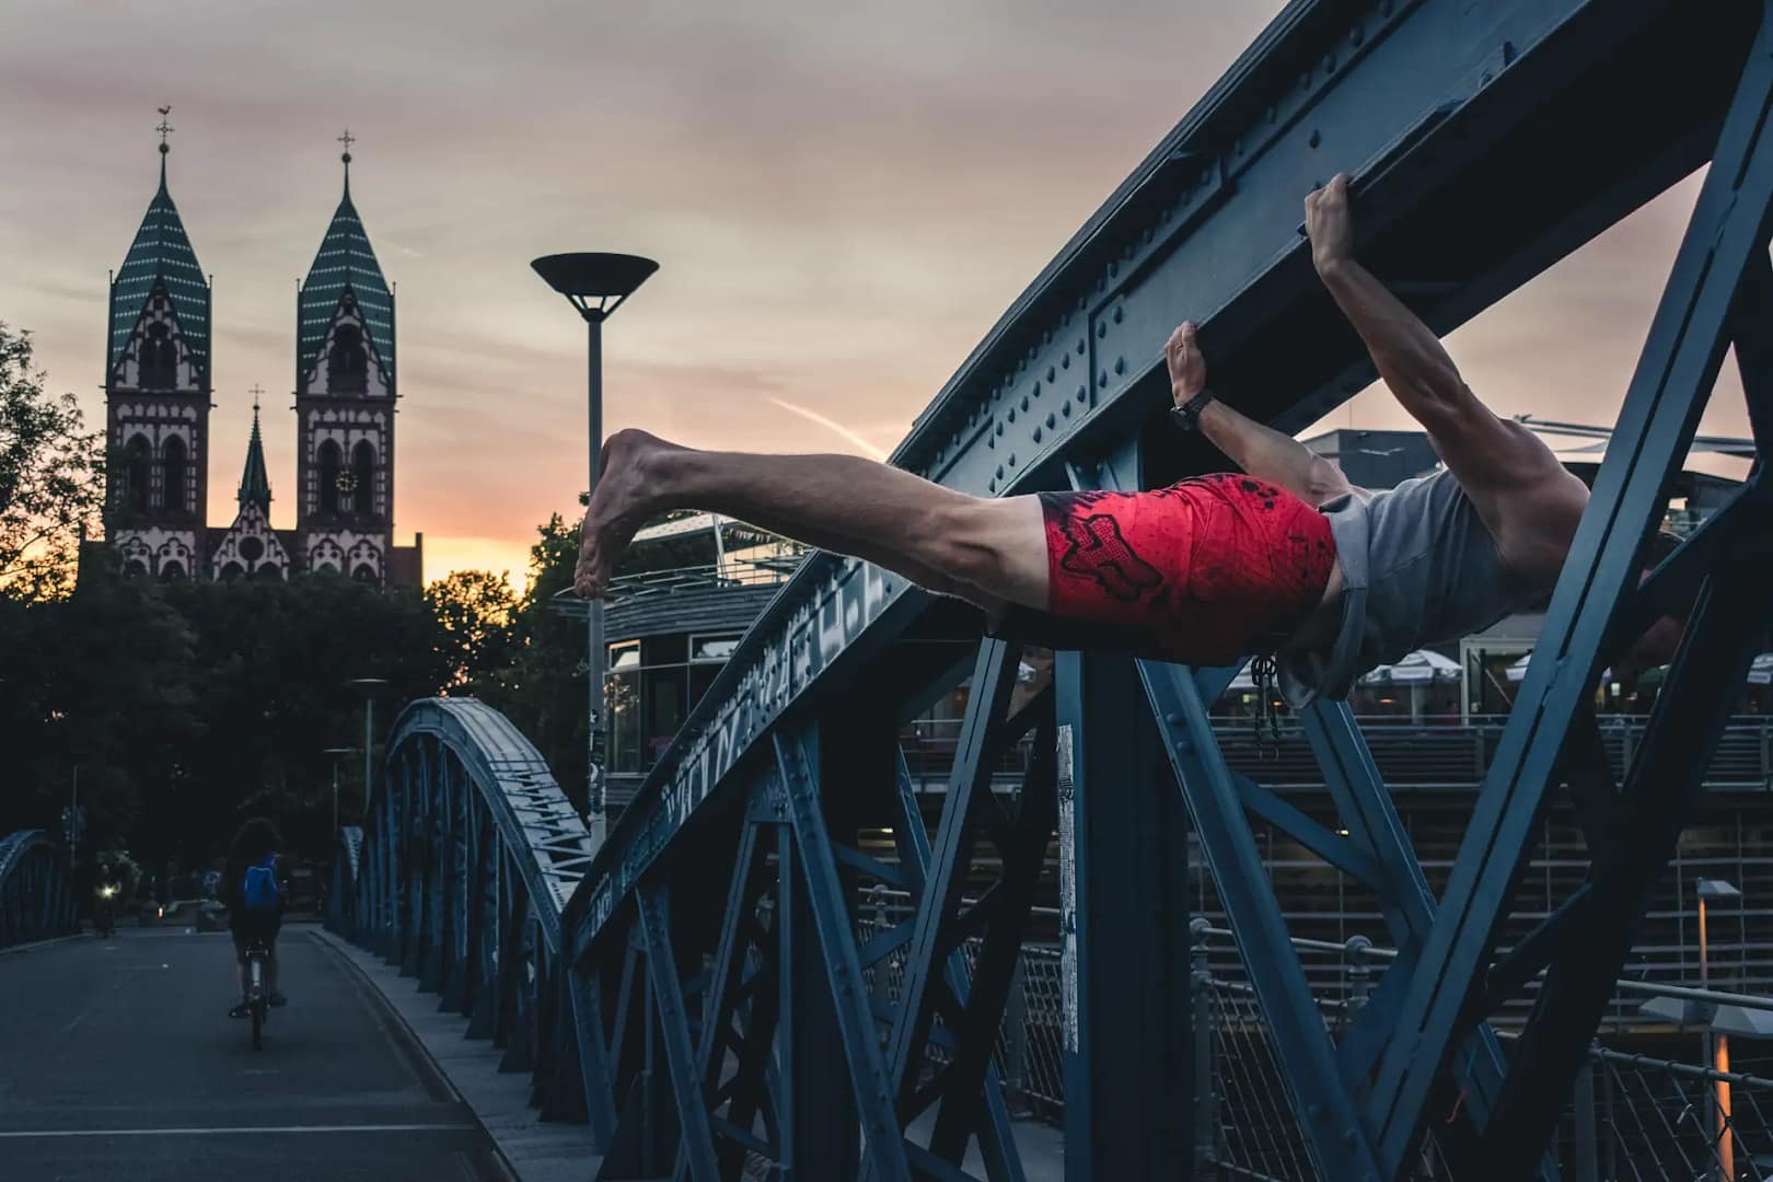
M 1363 252 L 1450 330 L 1707 158 L 1755 11 L 1289 5 L 993 328 L 895 463 L 973 493 L 1062 487 L 1067 463 L 1167 404 L 1160 346 L 1183 315 L 1202 323 L 1223 397 L 1280 427 L 1316 420 L 1371 363 L 1298 234 L 1314 181 L 1355 167 Z M 1649 94 L 1651 66 L 1690 82 Z M 1213 466 L 1181 447 L 1152 439 L 1147 484 Z M 599 851 L 569 914 L 574 950 L 681 826 L 738 796 L 730 773 L 778 718 L 878 670 L 929 615 L 878 567 L 808 560 Z

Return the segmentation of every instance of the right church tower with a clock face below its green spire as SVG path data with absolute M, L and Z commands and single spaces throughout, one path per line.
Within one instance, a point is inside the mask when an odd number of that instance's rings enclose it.
M 344 197 L 296 294 L 296 562 L 383 585 L 417 581 L 394 553 L 394 292 Z M 408 571 L 411 567 L 411 571 Z

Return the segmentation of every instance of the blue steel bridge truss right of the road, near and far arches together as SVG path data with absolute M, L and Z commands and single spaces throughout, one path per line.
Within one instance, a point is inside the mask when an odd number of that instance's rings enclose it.
M 1553 1125 L 1766 620 L 1759 464 L 1642 588 L 1636 564 L 1732 340 L 1757 443 L 1773 438 L 1769 99 L 1764 0 L 1291 4 L 894 455 L 979 494 L 1215 470 L 1163 427 L 1160 347 L 1179 319 L 1202 324 L 1220 397 L 1287 431 L 1372 379 L 1300 236 L 1332 172 L 1355 174 L 1362 257 L 1447 331 L 1713 161 L 1440 898 L 1344 707 L 1303 719 L 1328 828 L 1227 766 L 1206 711 L 1230 670 L 1060 652 L 1051 688 L 1019 695 L 1019 645 L 982 640 L 977 613 L 816 555 L 596 856 L 509 723 L 463 700 L 410 707 L 371 820 L 346 836 L 340 921 L 498 1038 L 546 1113 L 587 1118 L 605 1178 L 1005 1182 L 1023 1164 L 991 1047 L 1057 835 L 1066 1173 L 1191 1177 L 1215 1143 L 1190 1127 L 1193 829 L 1321 1177 L 1406 1177 L 1431 1124 L 1461 1177 L 1555 1177 Z M 1582 704 L 1693 594 L 1670 688 L 1613 767 Z M 929 833 L 897 730 L 963 680 Z M 1030 734 L 1034 758 L 1002 783 L 1000 755 Z M 1590 877 L 1498 953 L 1560 789 Z M 1381 900 L 1399 957 L 1335 1038 L 1250 817 Z M 858 923 L 869 884 L 910 897 L 899 921 Z M 1505 1054 L 1486 1017 L 1534 980 Z

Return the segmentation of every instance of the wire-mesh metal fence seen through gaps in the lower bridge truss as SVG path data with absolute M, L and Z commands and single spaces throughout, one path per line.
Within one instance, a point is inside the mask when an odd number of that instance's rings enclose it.
M 874 888 L 863 895 L 858 936 L 865 941 L 904 918 L 902 895 Z M 1254 989 L 1241 980 L 1230 932 L 1204 920 L 1193 925 L 1191 1019 L 1195 1053 L 1195 1164 L 1199 1177 L 1316 1178 L 1293 1102 L 1262 1026 Z M 1301 953 L 1324 955 L 1319 941 L 1301 941 Z M 972 973 L 977 943 L 961 946 Z M 1385 966 L 1395 955 L 1356 937 L 1337 950 L 1344 987 L 1319 998 L 1326 1028 L 1340 1035 L 1365 1005 Z M 899 998 L 902 953 L 865 971 L 881 1003 Z M 1773 999 L 1718 994 L 1647 982 L 1621 982 L 1622 989 L 1661 996 L 1693 1007 L 1709 1021 L 1720 1007 L 1773 1012 Z M 1060 1038 L 1064 1030 L 1058 950 L 1027 945 L 998 1033 L 995 1063 L 1011 1111 L 1058 1124 L 1066 1111 Z M 1498 1037 L 1512 1038 L 1500 1030 Z M 1695 1031 L 1686 1031 L 1691 1044 Z M 1636 1182 L 1691 1178 L 1716 1182 L 1773 1182 L 1773 1079 L 1752 1072 L 1718 1070 L 1665 1056 L 1624 1049 L 1631 1037 L 1613 1033 L 1615 1046 L 1597 1042 L 1576 1083 L 1571 1109 L 1555 1145 L 1562 1177 L 1573 1182 Z M 945 1061 L 945 1040 L 931 1044 L 929 1067 Z M 1457 1100 L 1456 1100 L 1457 1102 Z M 1433 1138 L 1413 1171 L 1424 1182 L 1452 1180 L 1457 1150 Z

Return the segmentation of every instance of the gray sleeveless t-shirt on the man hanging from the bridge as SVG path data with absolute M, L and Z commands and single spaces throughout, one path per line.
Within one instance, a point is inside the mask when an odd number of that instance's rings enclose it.
M 1496 539 L 1450 471 L 1369 500 L 1324 502 L 1342 567 L 1342 624 L 1323 649 L 1280 654 L 1293 709 L 1344 698 L 1355 679 L 1422 645 L 1489 627 L 1537 588 L 1502 565 Z

